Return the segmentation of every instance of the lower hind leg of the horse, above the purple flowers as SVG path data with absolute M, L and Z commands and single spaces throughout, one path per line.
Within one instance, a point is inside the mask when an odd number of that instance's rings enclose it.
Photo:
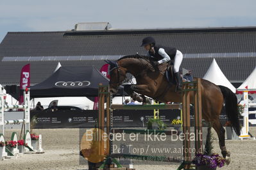
M 214 120 L 212 127 L 216 131 L 219 137 L 219 148 L 221 149 L 221 154 L 224 158 L 226 158 L 226 164 L 230 163 L 230 152 L 226 150 L 225 146 L 225 129 L 223 128 L 223 125 L 221 125 L 221 122 L 219 121 L 219 118 Z

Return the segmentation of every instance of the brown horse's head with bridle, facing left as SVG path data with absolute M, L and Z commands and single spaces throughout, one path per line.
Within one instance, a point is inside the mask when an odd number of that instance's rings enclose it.
M 105 60 L 110 65 L 110 82 L 109 91 L 117 93 L 119 86 L 126 79 L 126 68 L 123 68 L 119 63 L 120 61 Z

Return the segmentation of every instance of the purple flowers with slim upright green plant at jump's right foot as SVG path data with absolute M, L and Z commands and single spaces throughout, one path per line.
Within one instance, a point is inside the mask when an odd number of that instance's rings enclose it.
M 226 159 L 219 156 L 217 153 L 212 153 L 212 132 L 211 127 L 208 128 L 207 139 L 204 153 L 196 153 L 192 164 L 196 165 L 196 169 L 214 170 L 217 167 L 223 167 Z

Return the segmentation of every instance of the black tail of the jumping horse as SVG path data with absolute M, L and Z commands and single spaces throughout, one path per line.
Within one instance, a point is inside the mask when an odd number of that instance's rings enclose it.
M 228 120 L 230 121 L 232 128 L 235 130 L 235 134 L 240 135 L 241 126 L 239 123 L 239 110 L 237 105 L 237 97 L 235 94 L 225 86 L 219 86 L 221 93 L 223 94 L 225 101 L 225 110 Z

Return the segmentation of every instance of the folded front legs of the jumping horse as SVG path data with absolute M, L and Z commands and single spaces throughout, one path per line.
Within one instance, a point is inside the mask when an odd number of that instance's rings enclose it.
M 126 84 L 124 86 L 124 91 L 132 97 L 133 100 L 137 100 L 138 102 L 147 102 L 146 97 L 140 96 L 139 94 L 144 95 L 145 93 L 149 93 L 150 90 L 147 85 L 133 85 L 133 84 Z M 136 92 L 136 93 L 134 93 Z

